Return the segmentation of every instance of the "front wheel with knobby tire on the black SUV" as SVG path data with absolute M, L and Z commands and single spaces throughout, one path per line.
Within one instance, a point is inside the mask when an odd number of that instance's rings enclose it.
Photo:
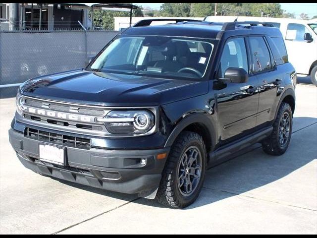
M 187 167 L 191 158 L 194 159 L 195 156 L 196 161 L 191 164 L 193 167 Z M 203 187 L 206 158 L 206 146 L 202 136 L 191 131 L 181 132 L 171 147 L 162 172 L 156 196 L 159 203 L 171 208 L 184 208 L 192 204 Z M 193 181 L 187 182 L 187 178 Z M 183 185 L 180 184 L 181 181 Z M 192 191 L 187 184 L 192 184 Z

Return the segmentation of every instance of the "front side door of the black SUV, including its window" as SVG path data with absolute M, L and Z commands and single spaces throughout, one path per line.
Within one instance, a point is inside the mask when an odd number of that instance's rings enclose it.
M 245 39 L 243 37 L 229 38 L 222 51 L 217 76 L 224 77 L 228 67 L 240 67 L 250 72 L 250 66 Z M 214 88 L 220 144 L 242 137 L 255 127 L 259 103 L 257 88 L 256 76 L 250 76 L 245 83 L 226 83 L 220 89 Z

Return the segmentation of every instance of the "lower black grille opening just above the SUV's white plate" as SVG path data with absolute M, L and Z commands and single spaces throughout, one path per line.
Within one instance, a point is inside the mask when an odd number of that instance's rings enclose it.
M 89 150 L 91 140 L 87 138 L 63 135 L 27 127 L 25 136 L 43 142 Z

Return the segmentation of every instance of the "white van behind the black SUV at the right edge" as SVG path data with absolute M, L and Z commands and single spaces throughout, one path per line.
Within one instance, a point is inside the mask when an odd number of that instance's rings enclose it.
M 269 22 L 282 32 L 288 53 L 288 60 L 297 74 L 310 75 L 317 86 L 317 20 L 253 16 L 208 16 L 207 21 L 230 22 L 260 21 Z M 280 46 L 277 46 L 280 47 Z

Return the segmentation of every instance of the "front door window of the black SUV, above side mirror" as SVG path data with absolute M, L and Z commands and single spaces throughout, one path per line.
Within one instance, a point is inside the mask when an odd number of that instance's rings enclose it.
M 219 65 L 219 77 L 229 67 L 244 68 L 248 72 L 248 58 L 243 38 L 234 38 L 226 42 Z

